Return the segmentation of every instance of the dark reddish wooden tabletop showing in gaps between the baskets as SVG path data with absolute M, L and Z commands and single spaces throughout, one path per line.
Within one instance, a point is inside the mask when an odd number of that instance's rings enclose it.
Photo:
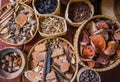
M 92 1 L 95 1 L 95 0 L 92 0 Z M 96 0 L 96 1 L 98 1 L 98 0 Z M 8 0 L 2 0 L 2 5 L 6 4 L 8 2 L 9 2 Z M 93 4 L 95 6 L 95 14 L 98 14 L 100 12 L 100 10 L 98 10 L 98 8 L 97 8 L 98 5 L 96 4 L 96 2 L 94 2 Z M 62 5 L 61 16 L 63 16 L 63 17 L 64 17 L 63 13 L 65 12 L 65 8 L 66 8 L 66 6 Z M 76 30 L 77 30 L 77 28 L 71 27 L 68 25 L 67 34 L 66 34 L 66 36 L 63 36 L 63 37 L 66 38 L 68 41 L 70 41 L 73 44 L 73 38 L 74 38 L 74 34 L 75 34 Z M 37 35 L 33 38 L 33 40 L 25 45 L 25 49 L 23 49 L 24 46 L 15 46 L 15 47 L 18 47 L 19 49 L 24 50 L 24 52 L 27 55 L 29 50 L 31 49 L 31 47 L 41 39 L 42 38 L 40 37 L 39 33 L 37 33 Z M 11 46 L 11 45 L 7 45 L 0 41 L 0 49 L 2 49 L 4 47 L 8 47 L 8 46 Z M 120 82 L 120 65 L 118 65 L 116 68 L 114 68 L 112 70 L 109 70 L 106 72 L 101 72 L 99 74 L 101 76 L 102 82 Z M 6 79 L 0 78 L 0 82 L 29 82 L 29 81 L 24 77 L 24 74 L 22 74 L 22 76 L 19 76 L 13 80 L 6 80 Z

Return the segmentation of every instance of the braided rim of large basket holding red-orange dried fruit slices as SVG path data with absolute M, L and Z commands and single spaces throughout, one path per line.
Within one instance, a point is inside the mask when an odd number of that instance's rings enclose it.
M 91 21 L 91 20 L 93 20 L 93 19 L 96 19 L 96 18 L 109 19 L 109 20 L 111 20 L 113 23 L 115 23 L 118 27 L 120 27 L 120 24 L 119 24 L 117 21 L 113 20 L 111 17 L 107 17 L 107 16 L 104 16 L 104 15 L 97 15 L 97 16 L 94 16 L 94 17 L 92 17 L 91 19 L 87 20 L 83 25 L 80 26 L 80 28 L 78 28 L 78 30 L 76 31 L 76 34 L 75 34 L 75 36 L 74 36 L 74 48 L 75 48 L 75 54 L 77 54 L 77 55 L 79 56 L 79 60 L 78 60 L 79 64 L 82 65 L 82 66 L 84 66 L 84 67 L 88 67 L 88 66 L 85 65 L 85 64 L 80 60 L 80 54 L 79 54 L 79 49 L 78 49 L 78 46 L 79 46 L 79 45 L 78 45 L 78 40 L 79 40 L 79 36 L 80 36 L 81 31 L 84 29 L 84 26 L 85 26 L 89 21 Z M 110 69 L 116 67 L 119 63 L 120 63 L 120 59 L 116 59 L 113 64 L 111 64 L 111 65 L 109 65 L 109 66 L 107 66 L 107 67 L 105 67 L 105 68 L 90 68 L 90 69 L 93 69 L 93 70 L 98 71 L 98 72 L 107 71 L 107 70 L 110 70 Z

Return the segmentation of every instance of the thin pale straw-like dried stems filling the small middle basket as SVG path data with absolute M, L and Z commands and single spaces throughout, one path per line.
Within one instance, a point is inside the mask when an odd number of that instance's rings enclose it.
M 55 16 L 40 17 L 40 31 L 45 34 L 65 32 L 65 20 Z

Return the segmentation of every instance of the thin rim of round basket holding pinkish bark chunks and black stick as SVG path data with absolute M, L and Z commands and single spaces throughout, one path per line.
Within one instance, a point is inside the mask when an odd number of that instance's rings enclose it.
M 54 38 L 58 38 L 59 40 L 62 40 L 62 41 L 64 41 L 64 42 L 66 42 L 66 43 L 72 48 L 72 50 L 74 51 L 74 47 L 72 46 L 72 44 L 71 44 L 70 42 L 68 42 L 67 40 L 65 40 L 64 38 L 60 38 L 60 37 L 49 37 L 49 38 L 42 39 L 42 40 L 40 40 L 39 42 L 37 42 L 37 43 L 31 48 L 31 50 L 30 50 L 30 52 L 29 52 L 29 54 L 28 54 L 28 56 L 27 56 L 27 61 L 28 61 L 28 63 L 27 63 L 27 64 L 28 64 L 28 65 L 27 65 L 27 69 L 30 69 L 30 68 L 29 68 L 29 65 L 30 65 L 29 62 L 31 61 L 31 53 L 32 53 L 33 50 L 34 50 L 34 47 L 35 47 L 36 45 L 42 43 L 42 42 L 45 41 L 45 40 L 54 39 Z M 74 55 L 75 55 L 75 57 L 76 57 L 76 71 L 75 71 L 74 76 L 72 77 L 72 79 L 71 79 L 70 82 L 73 82 L 73 81 L 75 80 L 76 75 L 77 75 L 77 72 L 78 72 L 78 56 L 77 56 L 76 54 L 74 54 Z

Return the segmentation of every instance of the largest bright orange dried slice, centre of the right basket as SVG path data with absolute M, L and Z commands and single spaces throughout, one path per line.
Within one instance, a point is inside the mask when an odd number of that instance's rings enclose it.
M 96 52 L 103 51 L 106 48 L 106 41 L 102 35 L 93 35 L 90 37 L 90 41 Z

